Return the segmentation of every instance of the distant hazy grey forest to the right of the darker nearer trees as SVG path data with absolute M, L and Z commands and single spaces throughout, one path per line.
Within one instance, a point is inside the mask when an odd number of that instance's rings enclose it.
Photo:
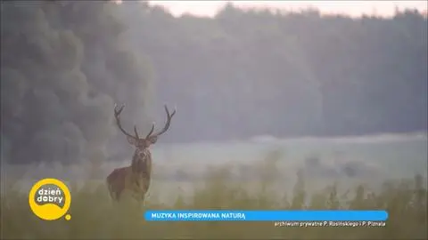
M 156 102 L 179 106 L 183 127 L 171 139 L 426 130 L 427 19 L 419 12 L 351 19 L 229 4 L 208 19 L 120 8 L 152 59 Z

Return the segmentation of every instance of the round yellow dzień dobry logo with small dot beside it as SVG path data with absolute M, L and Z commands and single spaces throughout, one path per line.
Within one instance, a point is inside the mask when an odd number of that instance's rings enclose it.
M 61 180 L 39 180 L 29 191 L 29 207 L 42 220 L 60 219 L 69 211 L 70 203 L 70 190 Z M 65 216 L 70 218 L 70 214 Z

